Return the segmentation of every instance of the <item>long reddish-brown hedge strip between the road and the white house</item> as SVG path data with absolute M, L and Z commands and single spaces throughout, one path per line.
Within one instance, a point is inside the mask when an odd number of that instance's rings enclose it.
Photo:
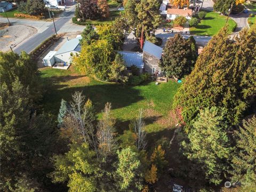
M 57 42 L 60 37 L 61 35 L 52 35 L 51 37 L 45 39 L 45 41 L 30 52 L 31 57 L 37 59 L 50 45 L 52 45 L 52 43 Z

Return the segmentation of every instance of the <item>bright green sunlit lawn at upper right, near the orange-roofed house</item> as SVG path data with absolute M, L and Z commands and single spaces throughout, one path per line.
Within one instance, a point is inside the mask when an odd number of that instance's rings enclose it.
M 215 35 L 218 31 L 225 26 L 227 17 L 222 16 L 219 13 L 208 12 L 201 23 L 196 27 L 190 28 L 190 34 L 193 35 Z M 228 20 L 229 31 L 232 32 L 232 29 L 236 26 L 236 22 L 232 19 Z

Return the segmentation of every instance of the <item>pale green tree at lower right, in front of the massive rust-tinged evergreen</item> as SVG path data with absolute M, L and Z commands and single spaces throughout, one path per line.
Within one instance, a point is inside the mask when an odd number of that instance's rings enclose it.
M 201 110 L 192 128 L 188 142 L 182 142 L 184 154 L 202 170 L 207 181 L 218 185 L 228 171 L 232 151 L 227 135 L 226 110 L 217 107 Z

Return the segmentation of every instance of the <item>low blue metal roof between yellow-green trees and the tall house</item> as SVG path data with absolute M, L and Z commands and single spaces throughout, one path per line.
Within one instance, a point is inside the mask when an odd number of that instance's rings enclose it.
M 123 56 L 126 67 L 135 65 L 136 67 L 143 69 L 143 57 L 142 53 L 132 51 L 118 51 Z

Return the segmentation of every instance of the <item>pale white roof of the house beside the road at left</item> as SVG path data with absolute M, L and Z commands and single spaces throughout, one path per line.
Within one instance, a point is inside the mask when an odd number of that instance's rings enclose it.
M 60 47 L 60 49 L 55 53 L 55 55 L 58 55 L 61 53 L 67 53 L 70 51 L 80 52 L 81 51 L 81 46 L 79 45 L 80 39 L 82 39 L 82 37 L 70 39 Z

